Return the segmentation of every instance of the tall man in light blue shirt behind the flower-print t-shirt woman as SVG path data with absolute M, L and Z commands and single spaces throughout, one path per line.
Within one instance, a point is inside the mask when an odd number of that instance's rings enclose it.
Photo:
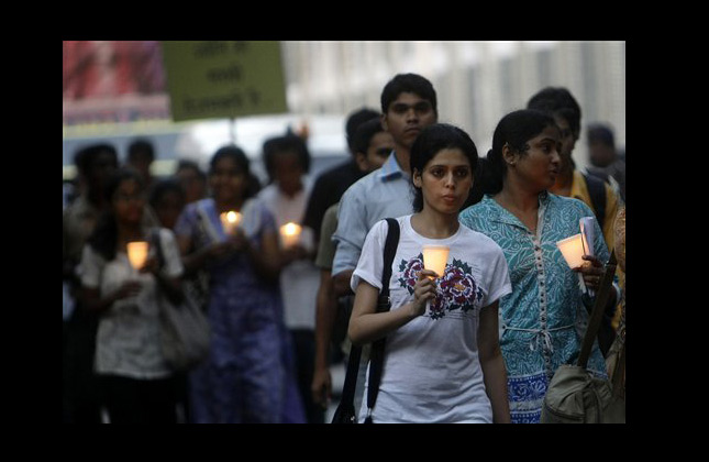
M 337 295 L 352 294 L 350 278 L 357 266 L 369 229 L 387 217 L 413 212 L 409 155 L 421 130 L 437 122 L 433 85 L 417 74 L 399 74 L 381 91 L 381 123 L 394 138 L 394 152 L 381 166 L 352 185 L 342 196 L 337 249 L 332 274 Z

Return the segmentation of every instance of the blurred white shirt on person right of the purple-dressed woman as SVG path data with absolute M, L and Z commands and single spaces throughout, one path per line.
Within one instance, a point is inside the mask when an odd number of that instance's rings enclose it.
M 303 188 L 293 197 L 288 197 L 280 191 L 277 184 L 272 184 L 261 190 L 258 199 L 273 213 L 278 228 L 288 222 L 301 223 L 311 186 L 311 182 L 303 177 Z M 300 243 L 308 251 L 314 250 L 314 234 L 310 228 L 302 228 Z M 284 301 L 284 320 L 289 329 L 315 329 L 319 287 L 320 270 L 311 260 L 297 260 L 281 270 L 280 294 Z

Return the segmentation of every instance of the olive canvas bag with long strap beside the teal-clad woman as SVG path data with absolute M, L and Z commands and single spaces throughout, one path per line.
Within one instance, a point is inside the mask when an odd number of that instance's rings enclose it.
M 598 378 L 586 369 L 614 273 L 616 254 L 611 253 L 588 320 L 578 362 L 576 365 L 563 364 L 554 373 L 542 405 L 542 424 L 625 422 L 625 397 L 621 386 L 625 363 L 624 341 L 609 380 Z

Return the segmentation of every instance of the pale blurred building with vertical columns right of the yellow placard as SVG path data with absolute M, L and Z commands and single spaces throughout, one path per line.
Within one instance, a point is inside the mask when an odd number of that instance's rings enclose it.
M 574 157 L 587 164 L 583 128 L 608 122 L 625 144 L 625 42 L 285 42 L 288 101 L 306 114 L 379 108 L 398 73 L 429 78 L 439 119 L 466 130 L 481 154 L 497 122 L 546 86 L 569 89 L 581 106 Z

